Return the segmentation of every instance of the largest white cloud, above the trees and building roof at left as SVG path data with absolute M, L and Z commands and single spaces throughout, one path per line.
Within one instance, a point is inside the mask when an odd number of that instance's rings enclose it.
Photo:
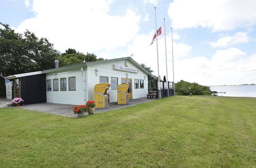
M 124 16 L 109 13 L 112 1 L 40 1 L 34 0 L 35 17 L 16 29 L 26 29 L 46 37 L 61 52 L 74 48 L 83 52 L 111 50 L 125 46 L 139 31 L 140 16 L 126 10 Z

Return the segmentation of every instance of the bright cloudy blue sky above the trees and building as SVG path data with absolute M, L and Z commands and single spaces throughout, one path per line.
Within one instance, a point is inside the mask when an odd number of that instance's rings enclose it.
M 200 85 L 256 83 L 255 0 L 1 0 L 0 22 L 98 58 L 132 57 L 158 75 Z M 172 34 L 173 28 L 173 57 Z M 167 75 L 166 75 L 167 74 Z

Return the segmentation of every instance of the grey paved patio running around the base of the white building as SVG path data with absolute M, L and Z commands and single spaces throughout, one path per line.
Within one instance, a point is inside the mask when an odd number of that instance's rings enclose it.
M 141 103 L 150 102 L 154 99 L 146 99 L 145 98 L 139 98 L 139 99 L 133 99 L 130 100 L 129 104 L 119 105 L 116 102 L 110 103 L 109 108 L 96 108 L 94 111 L 94 114 L 97 113 L 103 113 L 106 111 L 114 110 L 114 109 L 120 109 L 124 107 L 129 107 Z M 6 104 L 10 102 L 11 100 L 6 100 L 5 98 L 0 98 L 0 108 L 9 107 Z M 60 116 L 66 116 L 66 117 L 76 117 L 74 113 L 72 113 L 72 108 L 74 105 L 70 104 L 56 104 L 56 103 L 37 103 L 37 104 L 27 104 L 23 106 L 16 106 L 16 108 L 25 108 L 25 109 L 31 109 L 35 111 L 40 111 L 44 113 L 51 113 L 54 115 L 60 115 Z M 12 106 L 11 106 L 12 107 Z M 88 113 L 86 114 L 88 115 Z

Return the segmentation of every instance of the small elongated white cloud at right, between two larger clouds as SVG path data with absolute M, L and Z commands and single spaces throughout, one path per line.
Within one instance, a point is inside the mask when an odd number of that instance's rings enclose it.
M 247 36 L 246 32 L 238 32 L 234 36 L 226 36 L 220 38 L 216 42 L 210 42 L 212 47 L 226 47 L 233 44 L 247 43 L 251 40 L 251 37 Z

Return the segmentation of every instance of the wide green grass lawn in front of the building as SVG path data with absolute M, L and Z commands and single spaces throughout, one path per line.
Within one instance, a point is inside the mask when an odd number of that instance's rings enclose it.
M 256 167 L 256 99 L 175 96 L 83 118 L 0 108 L 0 167 Z

